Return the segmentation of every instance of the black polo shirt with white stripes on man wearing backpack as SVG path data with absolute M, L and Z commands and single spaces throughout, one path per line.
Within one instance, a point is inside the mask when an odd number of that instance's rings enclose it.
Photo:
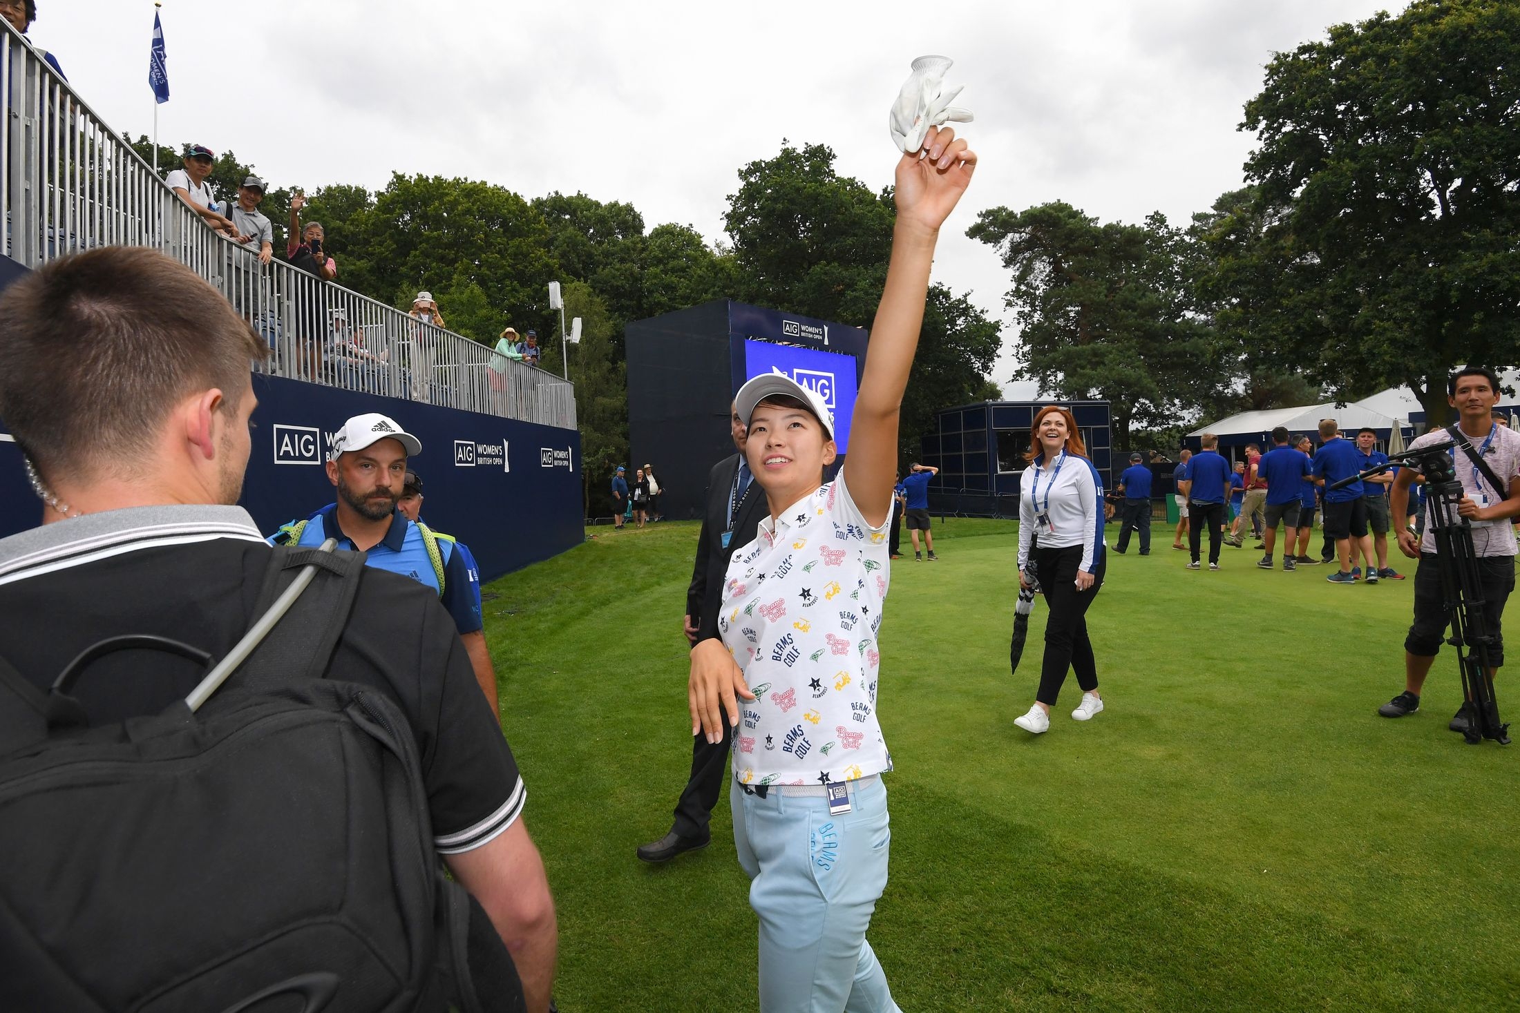
M 0 539 L 0 653 L 43 690 L 82 650 L 126 633 L 220 658 L 255 618 L 272 551 L 245 510 L 225 506 L 132 507 L 12 535 Z M 173 655 L 119 652 L 76 696 L 91 721 L 119 721 L 163 709 L 202 674 Z M 517 761 L 430 588 L 366 566 L 327 674 L 375 686 L 406 714 L 441 854 L 485 844 L 523 811 Z

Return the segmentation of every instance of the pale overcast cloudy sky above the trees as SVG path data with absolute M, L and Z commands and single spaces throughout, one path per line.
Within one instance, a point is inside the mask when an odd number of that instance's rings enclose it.
M 152 132 L 152 0 L 38 0 L 32 39 L 117 132 Z M 745 163 L 824 143 L 880 188 L 886 111 L 921 53 L 956 61 L 980 155 L 935 275 L 1008 319 L 980 208 L 1067 200 L 1186 222 L 1240 185 L 1236 128 L 1271 55 L 1398 0 L 499 3 L 164 0 L 166 144 L 231 147 L 275 185 L 468 176 L 628 200 L 722 238 Z M 745 14 L 748 11 L 748 14 Z M 1012 330 L 994 380 L 1009 393 Z

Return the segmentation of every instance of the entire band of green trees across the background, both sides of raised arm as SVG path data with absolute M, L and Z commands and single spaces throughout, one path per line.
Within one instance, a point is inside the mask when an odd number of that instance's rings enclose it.
M 1173 447 L 1198 419 L 1351 401 L 1409 386 L 1444 418 L 1458 363 L 1520 363 L 1520 5 L 1415 0 L 1277 53 L 1242 131 L 1245 185 L 1178 226 L 1100 222 L 1066 202 L 983 210 L 968 229 L 1011 275 L 1015 378 L 1058 398 L 1110 401 L 1114 445 Z M 144 158 L 147 138 L 135 147 Z M 179 155 L 160 149 L 160 164 Z M 251 166 L 211 173 L 236 193 Z M 277 231 L 293 187 L 263 204 Z M 631 204 L 392 175 L 378 191 L 310 191 L 339 282 L 409 307 L 430 290 L 450 327 L 491 345 L 537 328 L 559 372 L 549 281 L 584 319 L 570 354 L 588 509 L 628 463 L 623 328 L 716 298 L 869 328 L 886 273 L 889 190 L 838 175 L 824 144 L 739 170 L 725 240 L 646 228 Z M 275 245 L 283 254 L 283 243 Z M 1000 325 L 930 287 L 903 404 L 901 457 L 938 409 L 999 398 Z M 658 463 L 658 462 L 657 462 Z

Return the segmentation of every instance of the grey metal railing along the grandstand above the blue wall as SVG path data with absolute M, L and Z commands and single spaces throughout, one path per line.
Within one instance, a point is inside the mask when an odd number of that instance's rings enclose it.
M 38 267 L 94 246 L 150 246 L 211 282 L 264 337 L 264 372 L 576 428 L 575 386 L 553 374 L 283 260 L 260 264 L 257 249 L 205 225 L 24 36 L 0 26 L 0 205 L 12 260 Z

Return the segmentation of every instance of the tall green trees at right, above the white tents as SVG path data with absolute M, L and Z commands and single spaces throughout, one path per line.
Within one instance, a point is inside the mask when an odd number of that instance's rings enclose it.
M 1012 272 L 1018 377 L 1113 404 L 1114 442 L 1184 419 L 1520 363 L 1520 5 L 1417 0 L 1277 53 L 1240 190 L 1178 228 L 1064 202 L 982 211 Z

